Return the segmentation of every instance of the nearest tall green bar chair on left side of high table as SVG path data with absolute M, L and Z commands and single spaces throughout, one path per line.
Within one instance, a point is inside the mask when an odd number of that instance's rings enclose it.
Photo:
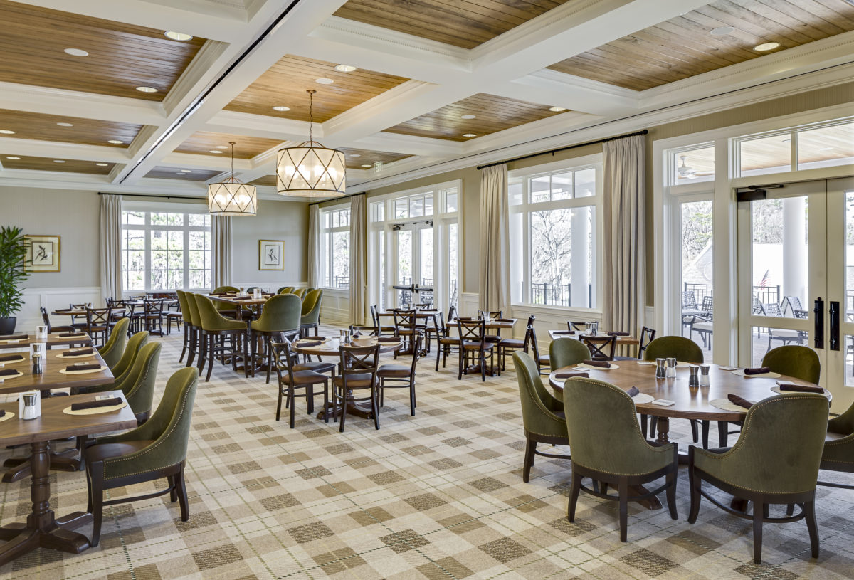
M 199 312 L 199 323 L 201 332 L 199 333 L 199 372 L 205 367 L 205 362 L 208 362 L 208 374 L 205 376 L 207 383 L 211 379 L 213 372 L 213 359 L 220 357 L 225 360 L 225 357 L 231 357 L 231 369 L 237 372 L 237 357 L 242 355 L 241 346 L 243 346 L 243 355 L 249 345 L 247 337 L 249 336 L 249 328 L 243 320 L 235 320 L 226 318 L 213 305 L 213 301 L 208 296 L 201 294 L 194 295 L 196 298 L 196 308 Z M 243 344 L 241 344 L 243 343 Z M 248 362 L 244 360 L 244 362 Z M 243 365 L 243 374 L 249 377 L 249 365 Z

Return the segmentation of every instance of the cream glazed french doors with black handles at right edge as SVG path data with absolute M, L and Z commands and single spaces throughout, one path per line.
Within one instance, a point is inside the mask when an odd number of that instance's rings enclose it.
M 854 401 L 854 179 L 769 187 L 739 203 L 739 363 L 800 344 L 834 410 Z

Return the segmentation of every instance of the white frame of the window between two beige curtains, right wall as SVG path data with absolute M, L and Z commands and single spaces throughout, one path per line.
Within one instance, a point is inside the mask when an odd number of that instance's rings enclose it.
M 576 172 L 584 169 L 595 169 L 596 171 L 596 192 L 594 196 L 587 197 L 572 197 L 549 202 L 529 202 L 529 180 L 535 177 L 545 175 L 555 175 L 559 173 Z M 582 315 L 597 314 L 602 312 L 602 247 L 604 239 L 604 218 L 602 211 L 602 187 L 603 187 L 603 155 L 600 153 L 594 155 L 584 155 L 564 161 L 553 161 L 534 167 L 524 167 L 515 169 L 507 173 L 507 179 L 510 183 L 522 183 L 522 203 L 513 205 L 510 204 L 511 220 L 513 214 L 523 214 L 522 219 L 522 260 L 518 262 L 523 268 L 522 280 L 523 291 L 521 300 L 512 300 L 512 308 L 518 308 L 520 311 L 533 312 L 559 312 L 561 315 L 567 313 L 581 313 Z M 509 193 L 509 192 L 508 192 Z M 591 272 L 591 284 L 594 284 L 594 308 L 587 306 L 560 306 L 557 304 L 534 304 L 530 301 L 531 287 L 531 261 L 530 261 L 530 214 L 551 209 L 571 209 L 571 208 L 587 208 L 593 207 L 595 214 L 595 236 L 594 236 L 594 257 Z M 511 228 L 511 246 L 517 243 L 512 237 Z M 510 266 L 510 265 L 508 265 Z M 512 273 L 508 274 L 512 277 Z M 511 296 L 517 296 L 511 290 Z

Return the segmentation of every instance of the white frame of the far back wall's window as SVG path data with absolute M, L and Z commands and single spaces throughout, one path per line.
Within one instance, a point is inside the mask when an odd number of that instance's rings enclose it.
M 144 212 L 145 214 L 145 223 L 144 224 L 125 224 L 122 223 L 122 238 L 124 238 L 125 230 L 142 230 L 144 231 L 144 251 L 145 251 L 145 288 L 144 290 L 128 290 L 126 288 L 122 289 L 122 294 L 124 296 L 128 296 L 131 294 L 137 294 L 140 292 L 162 292 L 167 290 L 189 290 L 189 291 L 200 291 L 200 290 L 210 290 L 208 288 L 190 288 L 190 231 L 208 231 L 211 232 L 210 219 L 208 219 L 208 226 L 190 226 L 189 214 L 203 214 L 208 215 L 208 208 L 204 205 L 194 204 L 194 203 L 155 203 L 155 202 L 122 202 L 121 211 L 124 212 Z M 184 215 L 184 225 L 183 226 L 165 226 L 165 225 L 157 225 L 151 223 L 151 214 L 183 214 Z M 124 222 L 124 220 L 122 220 Z M 181 288 L 151 288 L 151 231 L 183 231 L 184 232 L 184 246 L 183 250 L 181 250 L 184 254 L 184 284 Z M 213 283 L 213 234 L 210 235 L 211 240 L 211 248 L 209 249 L 209 253 L 206 256 L 206 271 L 210 272 L 210 278 Z M 122 280 L 124 284 L 125 280 L 125 272 L 124 272 L 124 257 L 125 251 L 124 249 L 120 250 L 122 253 Z M 209 258 L 209 260 L 208 260 Z

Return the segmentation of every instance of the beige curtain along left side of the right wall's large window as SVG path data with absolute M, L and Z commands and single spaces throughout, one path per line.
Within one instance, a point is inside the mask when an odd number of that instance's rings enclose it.
M 510 210 L 506 164 L 484 167 L 480 197 L 480 293 L 482 310 L 510 312 Z

